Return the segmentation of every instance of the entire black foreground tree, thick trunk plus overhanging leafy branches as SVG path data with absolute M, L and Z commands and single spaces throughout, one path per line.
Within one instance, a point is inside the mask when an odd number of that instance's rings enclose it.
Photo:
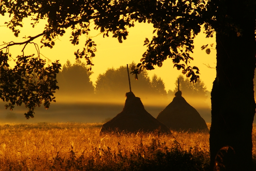
M 255 115 L 253 92 L 256 55 L 255 0 L 208 0 L 205 2 L 200 0 L 2 0 L 0 6 L 2 15 L 9 13 L 12 16 L 11 20 L 6 22 L 6 26 L 14 32 L 15 36 L 20 33 L 17 26 L 22 26 L 22 20 L 28 16 L 31 16 L 33 20 L 32 27 L 40 19 L 48 21 L 43 33 L 29 37 L 24 42 L 4 43 L 2 49 L 5 48 L 7 51 L 1 52 L 1 66 L 3 66 L 1 76 L 9 71 L 12 72 L 6 64 L 10 58 L 8 52 L 10 46 L 24 45 L 25 48 L 35 38 L 43 36 L 41 41 L 43 46 L 52 48 L 57 36 L 65 33 L 64 28 L 71 27 L 71 43 L 74 45 L 79 43 L 81 34 L 88 35 L 85 48 L 75 52 L 76 58 L 85 57 L 87 64 L 93 65 L 91 58 L 95 56 L 96 44 L 88 34 L 91 21 L 96 25 L 95 29 L 100 29 L 103 36 L 113 33 L 113 37 L 117 38 L 120 43 L 127 39 L 127 28 L 134 26 L 138 21 L 151 22 L 157 35 L 151 41 L 145 40 L 148 49 L 143 54 L 141 63 L 137 65 L 139 68 L 134 69 L 133 73 L 140 73 L 142 68 L 152 70 L 155 65 L 161 67 L 164 60 L 171 58 L 174 67 L 178 70 L 182 68 L 182 73 L 187 74 L 187 77 L 195 82 L 199 78 L 196 75 L 199 69 L 187 64 L 189 60 L 193 60 L 189 55 L 189 52 L 193 52 L 193 39 L 201 31 L 201 25 L 204 24 L 206 37 L 213 37 L 213 33 L 216 33 L 217 51 L 217 74 L 211 93 L 211 168 L 215 166 L 215 157 L 219 150 L 222 147 L 231 146 L 236 157 L 235 160 L 230 161 L 232 164 L 229 166 L 233 165 L 236 170 L 251 170 L 252 122 Z M 22 64 L 31 65 L 27 59 L 20 61 L 21 64 L 16 65 L 18 69 L 23 66 Z M 50 74 L 59 70 L 57 63 L 52 65 L 52 68 L 56 70 L 50 69 Z M 28 71 L 43 69 L 41 65 L 41 67 L 38 66 L 39 64 L 35 67 L 28 67 Z M 41 74 L 41 76 L 46 75 L 44 72 Z M 23 79 L 19 77 L 19 74 L 9 74 L 9 76 L 9 80 Z M 33 94 L 28 96 L 23 92 L 17 95 L 20 89 L 16 90 L 15 87 L 22 85 L 24 80 L 11 85 L 13 89 L 6 89 L 9 83 L 1 80 L 3 86 L 0 88 L 4 90 L 1 98 L 10 100 L 12 104 L 19 104 L 16 100 L 18 96 L 20 98 L 26 96 L 20 102 L 31 102 L 29 103 L 31 111 L 35 105 L 42 102 L 37 99 L 44 99 L 45 105 L 49 106 L 53 90 L 58 88 L 55 86 L 55 77 L 51 78 L 46 80 L 44 85 L 45 92 L 48 94 L 42 93 L 34 98 L 34 101 L 29 101 L 30 97 L 34 97 Z M 10 104 L 11 108 L 12 104 Z

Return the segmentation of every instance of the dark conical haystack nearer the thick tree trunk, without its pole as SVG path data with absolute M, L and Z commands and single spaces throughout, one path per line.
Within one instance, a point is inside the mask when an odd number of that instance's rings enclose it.
M 176 92 L 172 102 L 158 114 L 156 119 L 171 130 L 190 130 L 191 132 L 208 130 L 204 119 L 181 94 L 181 91 Z

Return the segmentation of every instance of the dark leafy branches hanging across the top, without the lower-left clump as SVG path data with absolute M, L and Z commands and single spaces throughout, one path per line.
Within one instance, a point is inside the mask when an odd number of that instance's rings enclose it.
M 84 57 L 87 64 L 91 66 L 93 65 L 92 57 L 95 56 L 94 52 L 96 51 L 96 44 L 89 36 L 89 27 L 92 22 L 95 25 L 94 29 L 100 29 L 103 37 L 113 33 L 113 37 L 116 37 L 120 43 L 128 35 L 127 28 L 134 26 L 136 21 L 151 22 L 157 36 L 154 36 L 151 41 L 146 38 L 144 45 L 147 45 L 148 50 L 143 54 L 141 63 L 137 65 L 139 68 L 135 69 L 133 73 L 138 74 L 143 68 L 152 70 L 154 65 L 161 67 L 162 62 L 168 57 L 172 58 L 174 67 L 177 67 L 178 70 L 182 68 L 183 74 L 187 73 L 187 76 L 191 76 L 191 81 L 194 82 L 199 77 L 194 70 L 198 74 L 199 69 L 187 64 L 189 60 L 193 60 L 189 56 L 189 52 L 193 53 L 193 39 L 205 22 L 202 18 L 206 12 L 204 4 L 204 1 L 199 0 L 55 0 L 51 2 L 3 0 L 0 13 L 2 15 L 9 13 L 11 20 L 6 23 L 6 26 L 12 29 L 15 36 L 19 35 L 20 31 L 17 27 L 22 26 L 24 18 L 31 17 L 32 27 L 40 19 L 47 19 L 48 24 L 45 26 L 45 30 L 37 35 L 43 36 L 41 42 L 45 47 L 52 48 L 58 36 L 62 36 L 65 33 L 64 29 L 69 27 L 72 29 L 70 41 L 74 45 L 79 43 L 79 36 L 85 34 L 87 36 L 85 48 L 82 51 L 77 50 L 75 56 L 76 59 Z M 206 30 L 212 31 L 210 27 L 207 27 Z M 208 36 L 212 36 L 212 32 L 208 33 Z M 34 37 L 30 37 L 31 41 Z M 12 45 L 15 43 L 7 43 L 5 47 Z M 180 61 L 184 63 L 180 63 Z

